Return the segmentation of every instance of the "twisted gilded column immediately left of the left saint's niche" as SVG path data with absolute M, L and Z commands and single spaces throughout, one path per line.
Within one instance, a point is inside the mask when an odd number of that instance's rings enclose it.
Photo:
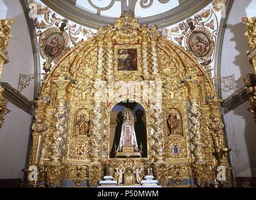
M 68 79 L 61 74 L 56 86 L 56 113 L 54 123 L 53 143 L 51 144 L 51 161 L 57 162 L 63 159 L 63 142 L 67 130 L 67 86 Z

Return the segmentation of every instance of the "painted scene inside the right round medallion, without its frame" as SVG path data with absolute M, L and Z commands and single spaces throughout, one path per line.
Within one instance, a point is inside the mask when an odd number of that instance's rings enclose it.
M 198 32 L 193 34 L 190 43 L 191 49 L 196 56 L 205 56 L 210 49 L 210 42 L 205 34 Z

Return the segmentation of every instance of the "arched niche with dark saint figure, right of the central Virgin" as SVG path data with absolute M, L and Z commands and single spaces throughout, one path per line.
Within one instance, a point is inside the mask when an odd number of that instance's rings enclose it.
M 178 109 L 169 109 L 166 124 L 168 136 L 183 134 L 182 117 Z

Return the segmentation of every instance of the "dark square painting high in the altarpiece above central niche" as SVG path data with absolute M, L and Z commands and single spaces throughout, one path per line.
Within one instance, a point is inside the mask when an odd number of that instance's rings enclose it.
M 118 49 L 118 71 L 137 71 L 137 49 Z

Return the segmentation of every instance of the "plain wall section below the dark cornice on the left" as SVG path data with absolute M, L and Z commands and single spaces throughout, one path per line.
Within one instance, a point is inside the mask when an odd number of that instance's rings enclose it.
M 18 179 L 23 178 L 31 116 L 11 103 L 8 109 L 0 129 L 0 179 Z

